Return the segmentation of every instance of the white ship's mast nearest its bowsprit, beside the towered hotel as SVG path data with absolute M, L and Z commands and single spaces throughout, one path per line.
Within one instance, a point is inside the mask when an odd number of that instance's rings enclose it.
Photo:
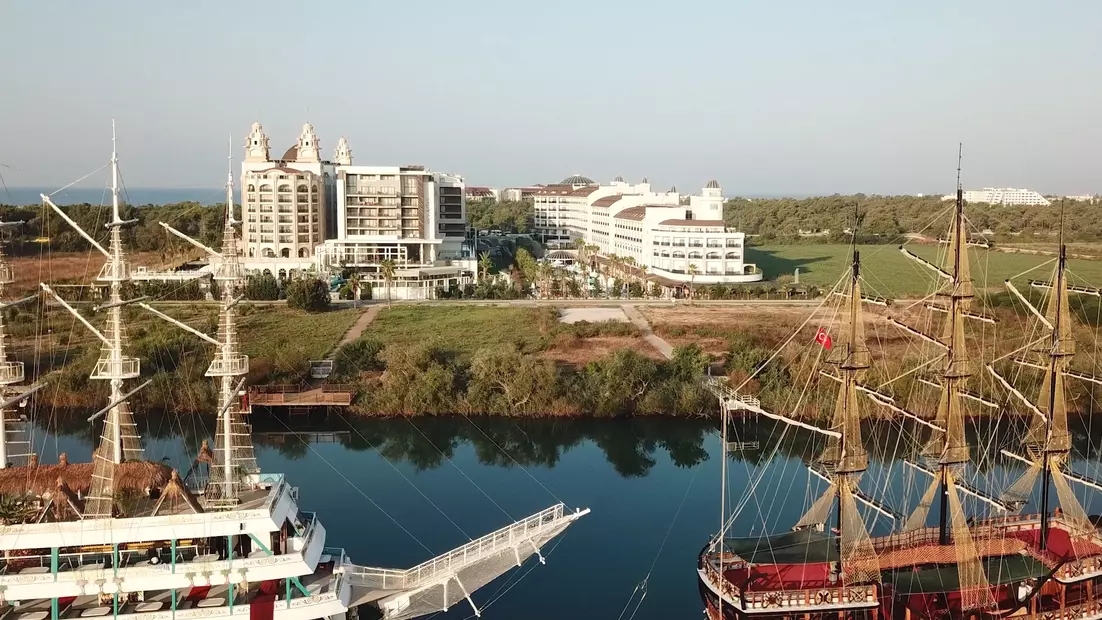
M 233 149 L 233 144 L 230 149 Z M 160 318 L 217 347 L 215 358 L 206 371 L 207 377 L 218 378 L 219 389 L 214 463 L 210 465 L 210 477 L 207 480 L 204 503 L 208 508 L 220 509 L 231 509 L 237 505 L 240 501 L 240 492 L 249 488 L 249 477 L 259 472 L 251 429 L 245 422 L 246 412 L 241 409 L 237 398 L 237 392 L 245 383 L 244 377 L 249 372 L 249 357 L 240 352 L 236 320 L 237 304 L 241 301 L 238 295 L 245 286 L 245 269 L 240 261 L 240 247 L 235 228 L 238 224 L 240 222 L 234 218 L 233 150 L 230 150 L 229 171 L 226 177 L 226 218 L 222 235 L 222 251 L 208 248 L 161 222 L 161 226 L 169 232 L 210 255 L 210 262 L 214 265 L 214 281 L 220 289 L 217 338 L 212 338 L 147 304 L 141 304 L 142 307 Z

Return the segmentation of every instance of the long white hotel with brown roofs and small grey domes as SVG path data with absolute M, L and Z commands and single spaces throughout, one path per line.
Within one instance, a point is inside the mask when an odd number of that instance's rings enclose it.
M 646 180 L 599 185 L 574 175 L 536 192 L 536 230 L 549 244 L 584 239 L 603 255 L 630 257 L 667 285 L 760 281 L 756 265 L 744 262 L 746 236 L 723 221 L 720 184 L 688 198 L 683 205 L 677 188 L 653 192 Z

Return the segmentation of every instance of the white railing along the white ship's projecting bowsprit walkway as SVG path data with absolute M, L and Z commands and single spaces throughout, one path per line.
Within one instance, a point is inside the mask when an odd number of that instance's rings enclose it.
M 441 575 L 451 575 L 458 568 L 482 558 L 493 556 L 504 550 L 514 548 L 548 530 L 549 524 L 558 525 L 563 518 L 564 509 L 563 504 L 555 504 L 412 568 L 400 570 L 352 566 L 348 573 L 353 577 L 381 581 L 383 589 L 417 588 L 439 579 Z

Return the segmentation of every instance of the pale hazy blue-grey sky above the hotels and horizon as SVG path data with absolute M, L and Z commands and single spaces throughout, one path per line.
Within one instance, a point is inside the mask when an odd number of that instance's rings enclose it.
M 273 156 L 472 185 L 1102 192 L 1098 0 L 51 0 L 0 6 L 0 174 L 217 187 Z M 83 182 L 101 185 L 100 173 Z

